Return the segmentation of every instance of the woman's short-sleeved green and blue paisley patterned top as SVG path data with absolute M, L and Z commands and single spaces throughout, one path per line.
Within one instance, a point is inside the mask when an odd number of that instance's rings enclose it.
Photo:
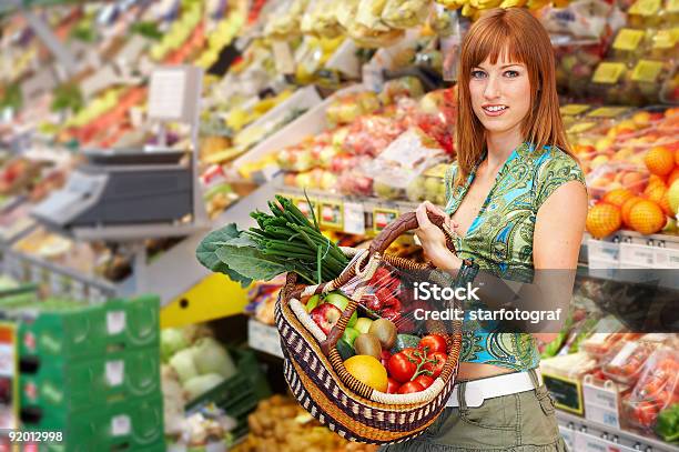
M 465 183 L 454 187 L 457 164 L 450 165 L 445 180 L 446 213 L 457 211 L 477 168 Z M 572 157 L 554 147 L 536 151 L 533 144 L 520 144 L 498 172 L 467 234 L 456 237 L 457 255 L 498 277 L 531 273 L 538 209 L 557 188 L 574 180 L 585 183 Z M 539 353 L 528 333 L 494 333 L 469 321 L 465 322 L 460 360 L 523 371 L 539 364 Z

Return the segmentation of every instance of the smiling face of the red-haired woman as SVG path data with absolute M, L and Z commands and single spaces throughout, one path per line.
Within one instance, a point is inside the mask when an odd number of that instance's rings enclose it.
M 525 64 L 489 58 L 472 68 L 472 107 L 489 133 L 520 133 L 521 121 L 530 109 L 530 82 Z

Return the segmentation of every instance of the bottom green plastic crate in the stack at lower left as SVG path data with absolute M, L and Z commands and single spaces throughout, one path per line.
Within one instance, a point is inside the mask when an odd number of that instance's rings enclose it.
M 22 410 L 22 421 L 27 418 Z M 63 432 L 63 442 L 41 448 L 51 452 L 162 451 L 163 398 L 159 393 L 81 411 L 52 410 L 24 422 L 23 429 Z

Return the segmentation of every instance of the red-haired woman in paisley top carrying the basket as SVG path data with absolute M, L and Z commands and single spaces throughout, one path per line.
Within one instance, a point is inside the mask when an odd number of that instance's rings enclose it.
M 526 10 L 490 10 L 472 26 L 462 47 L 458 158 L 446 178 L 446 209 L 417 209 L 417 237 L 437 268 L 457 270 L 472 259 L 500 275 L 575 270 L 587 192 L 568 153 L 554 67 L 549 36 Z M 457 255 L 427 210 L 445 214 Z M 387 449 L 566 450 L 537 369 L 535 340 L 556 333 L 467 330 L 446 410 L 419 438 Z

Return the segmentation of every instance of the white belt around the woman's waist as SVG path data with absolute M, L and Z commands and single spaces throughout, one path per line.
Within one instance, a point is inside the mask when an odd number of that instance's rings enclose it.
M 543 374 L 539 369 L 535 370 L 538 376 L 538 382 L 543 385 Z M 446 406 L 459 406 L 457 391 L 459 384 L 455 384 L 450 399 Z M 486 399 L 499 398 L 503 395 L 516 394 L 525 391 L 533 391 L 535 384 L 530 379 L 528 371 L 505 373 L 487 379 L 473 380 L 465 383 L 465 402 L 467 406 L 480 406 Z

